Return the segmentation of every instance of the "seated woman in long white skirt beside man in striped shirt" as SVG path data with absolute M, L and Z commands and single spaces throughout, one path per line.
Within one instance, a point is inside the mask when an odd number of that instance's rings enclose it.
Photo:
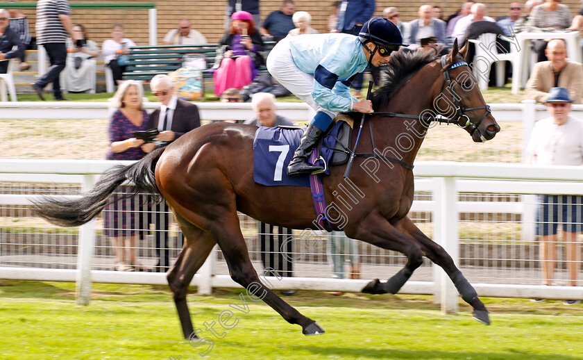
M 81 37 L 76 44 L 67 38 L 67 66 L 61 73 L 61 81 L 65 89 L 69 92 L 82 92 L 91 90 L 92 81 L 90 76 L 94 76 L 95 63 L 88 61 L 90 58 L 99 56 L 99 46 L 89 40 L 85 26 L 78 24 L 73 26 L 73 32 Z

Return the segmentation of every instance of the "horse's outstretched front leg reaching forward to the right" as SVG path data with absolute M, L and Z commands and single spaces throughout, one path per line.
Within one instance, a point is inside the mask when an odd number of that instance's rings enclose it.
M 478 293 L 473 286 L 471 286 L 466 277 L 464 277 L 462 272 L 457 266 L 455 266 L 453 259 L 451 259 L 451 256 L 446 250 L 423 234 L 423 232 L 408 218 L 403 219 L 403 227 L 408 234 L 419 242 L 425 256 L 443 268 L 451 281 L 453 281 L 453 284 L 455 285 L 455 288 L 457 288 L 459 295 L 462 296 L 462 299 L 473 307 L 473 317 L 476 320 L 489 325 L 490 319 L 486 306 L 484 306 L 484 303 L 482 303 L 482 300 L 478 297 Z

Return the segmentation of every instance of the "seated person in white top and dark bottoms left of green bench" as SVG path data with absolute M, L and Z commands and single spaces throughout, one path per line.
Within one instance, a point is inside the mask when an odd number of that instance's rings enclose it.
M 124 26 L 119 23 L 113 24 L 111 37 L 103 42 L 101 52 L 106 66 L 111 69 L 113 82 L 119 85 L 122 74 L 126 71 L 126 56 L 130 54 L 130 47 L 136 45 L 132 40 L 124 38 Z

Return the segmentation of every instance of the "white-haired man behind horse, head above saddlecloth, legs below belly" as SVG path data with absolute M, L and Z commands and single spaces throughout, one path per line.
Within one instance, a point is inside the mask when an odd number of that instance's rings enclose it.
M 246 120 L 244 124 L 273 127 L 279 125 L 293 126 L 294 123 L 286 117 L 276 114 L 276 97 L 267 92 L 257 92 L 251 99 L 251 108 L 255 117 Z M 292 229 L 277 227 L 277 234 L 274 234 L 276 227 L 264 222 L 257 222 L 259 228 L 259 242 L 261 251 L 261 261 L 264 269 L 275 270 L 283 277 L 293 277 L 292 258 L 285 254 L 292 254 L 292 241 L 286 241 L 287 248 L 282 254 L 284 241 L 293 236 Z M 292 295 L 294 290 L 284 290 L 283 295 Z

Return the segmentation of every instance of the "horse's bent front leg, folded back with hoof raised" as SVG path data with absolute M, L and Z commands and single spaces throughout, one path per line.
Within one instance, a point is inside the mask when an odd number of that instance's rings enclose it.
M 398 224 L 391 224 L 378 213 L 371 213 L 360 222 L 354 237 L 366 241 L 366 243 L 383 249 L 394 250 L 407 256 L 407 263 L 403 269 L 385 283 L 382 283 L 379 279 L 371 281 L 362 289 L 363 293 L 396 294 L 409 280 L 413 272 L 423 263 L 421 247 L 419 247 L 414 238 L 404 233 Z

